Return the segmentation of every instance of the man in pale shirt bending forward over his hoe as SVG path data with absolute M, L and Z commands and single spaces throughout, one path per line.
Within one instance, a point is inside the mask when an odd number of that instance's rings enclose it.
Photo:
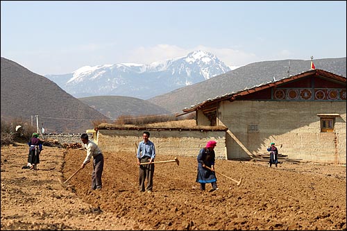
M 85 145 L 85 149 L 87 149 L 87 156 L 81 165 L 81 169 L 83 169 L 93 157 L 92 190 L 100 190 L 102 187 L 103 153 L 101 153 L 99 146 L 88 140 L 88 135 L 86 133 L 81 135 L 81 141 Z

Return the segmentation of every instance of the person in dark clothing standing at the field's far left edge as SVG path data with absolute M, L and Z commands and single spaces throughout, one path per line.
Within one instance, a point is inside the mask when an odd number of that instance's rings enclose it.
M 43 141 L 39 139 L 39 135 L 34 132 L 33 137 L 28 142 L 29 154 L 28 154 L 28 167 L 31 170 L 37 170 L 37 164 L 40 163 L 40 153 L 42 151 Z

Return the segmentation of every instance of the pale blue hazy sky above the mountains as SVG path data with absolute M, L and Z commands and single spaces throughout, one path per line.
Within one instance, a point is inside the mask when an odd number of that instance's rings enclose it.
M 1 1 L 1 57 L 37 74 L 196 50 L 230 67 L 346 57 L 346 1 Z

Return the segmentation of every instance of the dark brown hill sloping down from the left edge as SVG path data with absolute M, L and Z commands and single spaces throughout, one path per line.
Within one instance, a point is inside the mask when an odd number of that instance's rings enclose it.
M 23 119 L 45 132 L 81 133 L 105 115 L 63 91 L 48 78 L 1 57 L 1 119 Z

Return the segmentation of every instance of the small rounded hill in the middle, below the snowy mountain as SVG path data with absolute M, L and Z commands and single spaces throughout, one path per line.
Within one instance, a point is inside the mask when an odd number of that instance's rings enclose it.
M 90 96 L 79 98 L 83 103 L 98 110 L 110 119 L 119 116 L 140 116 L 154 114 L 171 114 L 168 110 L 142 99 L 128 96 Z

